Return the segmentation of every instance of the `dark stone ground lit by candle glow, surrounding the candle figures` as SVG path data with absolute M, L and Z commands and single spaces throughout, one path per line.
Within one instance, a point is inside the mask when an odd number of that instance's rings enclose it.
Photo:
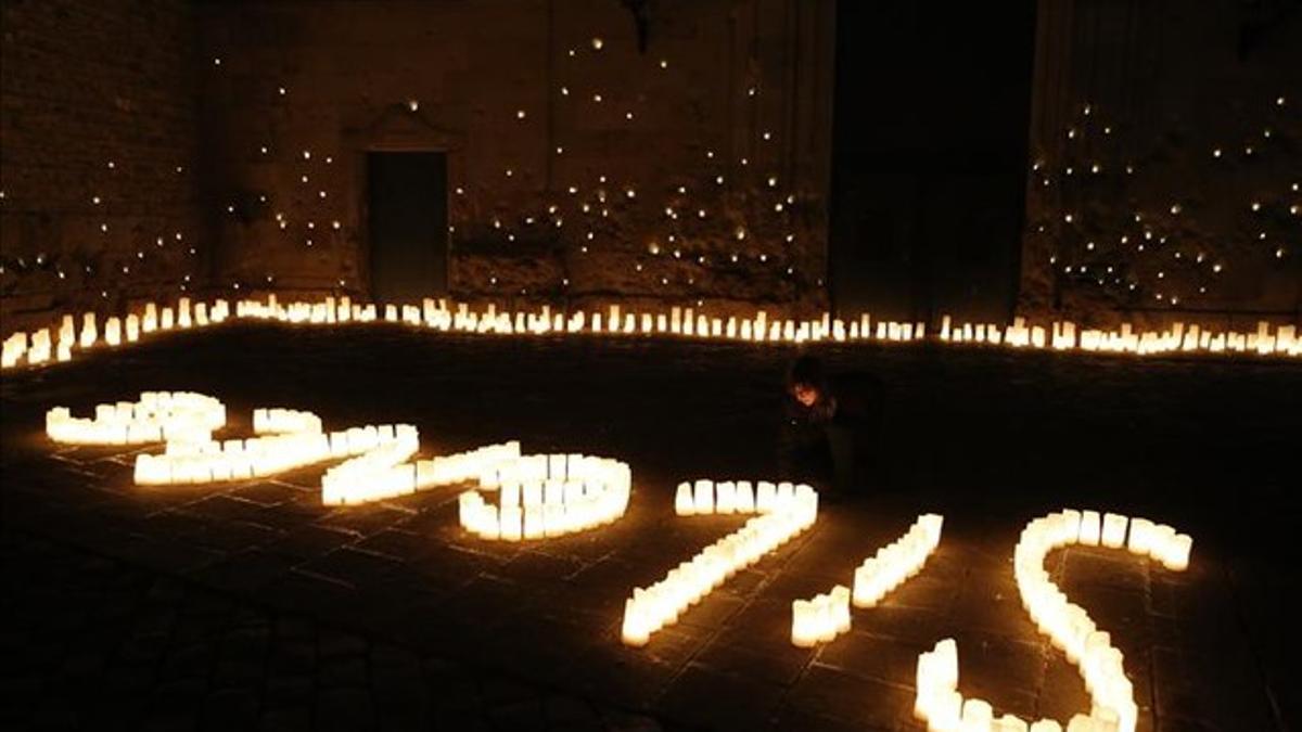
M 960 686 L 1065 720 L 1079 676 L 1021 610 L 1010 554 L 1062 507 L 1170 522 L 1189 572 L 1105 550 L 1051 556 L 1111 630 L 1141 729 L 1302 720 L 1282 600 L 1298 513 L 1302 367 L 936 346 L 822 349 L 887 384 L 868 495 L 743 572 L 648 647 L 624 598 L 736 529 L 678 518 L 673 486 L 772 474 L 790 352 L 740 345 L 462 339 L 404 328 L 230 326 L 0 383 L 5 728 L 907 729 L 917 654 L 958 640 Z M 628 514 L 493 546 L 456 490 L 328 508 L 322 468 L 224 486 L 132 485 L 135 451 L 66 448 L 43 413 L 145 389 L 327 427 L 411 422 L 424 453 L 501 439 L 631 464 Z M 790 600 L 850 570 L 922 512 L 927 568 L 816 650 Z

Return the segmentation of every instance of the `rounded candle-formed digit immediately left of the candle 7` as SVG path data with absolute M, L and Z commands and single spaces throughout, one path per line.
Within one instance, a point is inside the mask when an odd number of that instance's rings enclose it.
M 624 516 L 633 475 L 626 462 L 586 455 L 514 456 L 461 494 L 461 525 L 490 541 L 518 542 L 583 531 Z M 480 491 L 497 491 L 499 504 Z

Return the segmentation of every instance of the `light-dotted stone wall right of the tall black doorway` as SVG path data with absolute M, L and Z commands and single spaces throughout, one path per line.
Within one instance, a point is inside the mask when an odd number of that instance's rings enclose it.
M 1297 322 L 1297 4 L 1039 5 L 1021 310 Z

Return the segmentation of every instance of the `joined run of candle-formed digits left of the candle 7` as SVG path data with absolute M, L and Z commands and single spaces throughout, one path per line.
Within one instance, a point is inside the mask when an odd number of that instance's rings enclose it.
M 255 438 L 215 440 L 227 409 L 190 392 L 145 392 L 139 401 L 102 404 L 94 418 L 65 406 L 46 413 L 46 434 L 69 444 L 163 442 L 161 455 L 137 455 L 141 486 L 246 481 L 328 460 L 322 503 L 348 505 L 475 481 L 461 494 L 461 525 L 486 539 L 557 537 L 624 516 L 633 485 L 626 462 L 585 455 L 529 455 L 518 442 L 411 460 L 421 449 L 411 425 L 367 425 L 327 432 L 311 412 L 255 409 Z M 497 491 L 500 505 L 480 491 Z

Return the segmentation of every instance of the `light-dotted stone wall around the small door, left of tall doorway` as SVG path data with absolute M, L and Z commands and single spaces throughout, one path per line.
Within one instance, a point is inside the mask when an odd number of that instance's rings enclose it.
M 199 8 L 225 287 L 367 293 L 366 151 L 443 150 L 456 296 L 825 302 L 829 0 Z

